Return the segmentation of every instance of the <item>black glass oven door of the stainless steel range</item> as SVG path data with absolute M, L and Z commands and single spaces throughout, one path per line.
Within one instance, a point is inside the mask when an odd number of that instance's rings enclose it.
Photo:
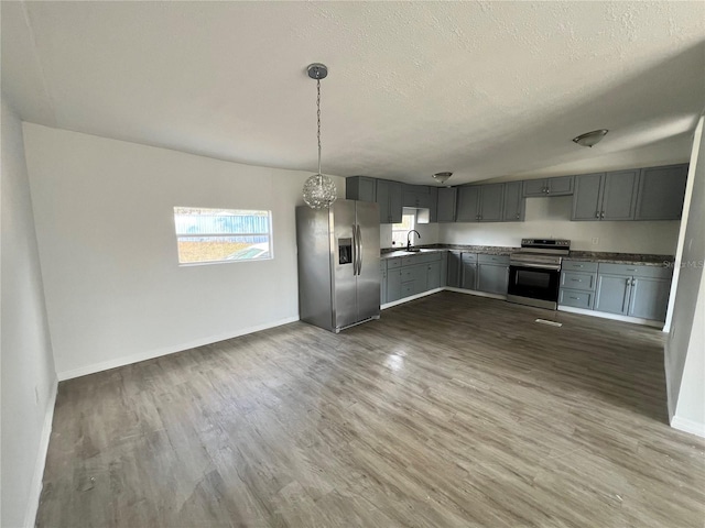
M 509 266 L 508 300 L 555 309 L 561 272 L 533 266 Z M 533 300 L 533 301 L 532 301 Z

